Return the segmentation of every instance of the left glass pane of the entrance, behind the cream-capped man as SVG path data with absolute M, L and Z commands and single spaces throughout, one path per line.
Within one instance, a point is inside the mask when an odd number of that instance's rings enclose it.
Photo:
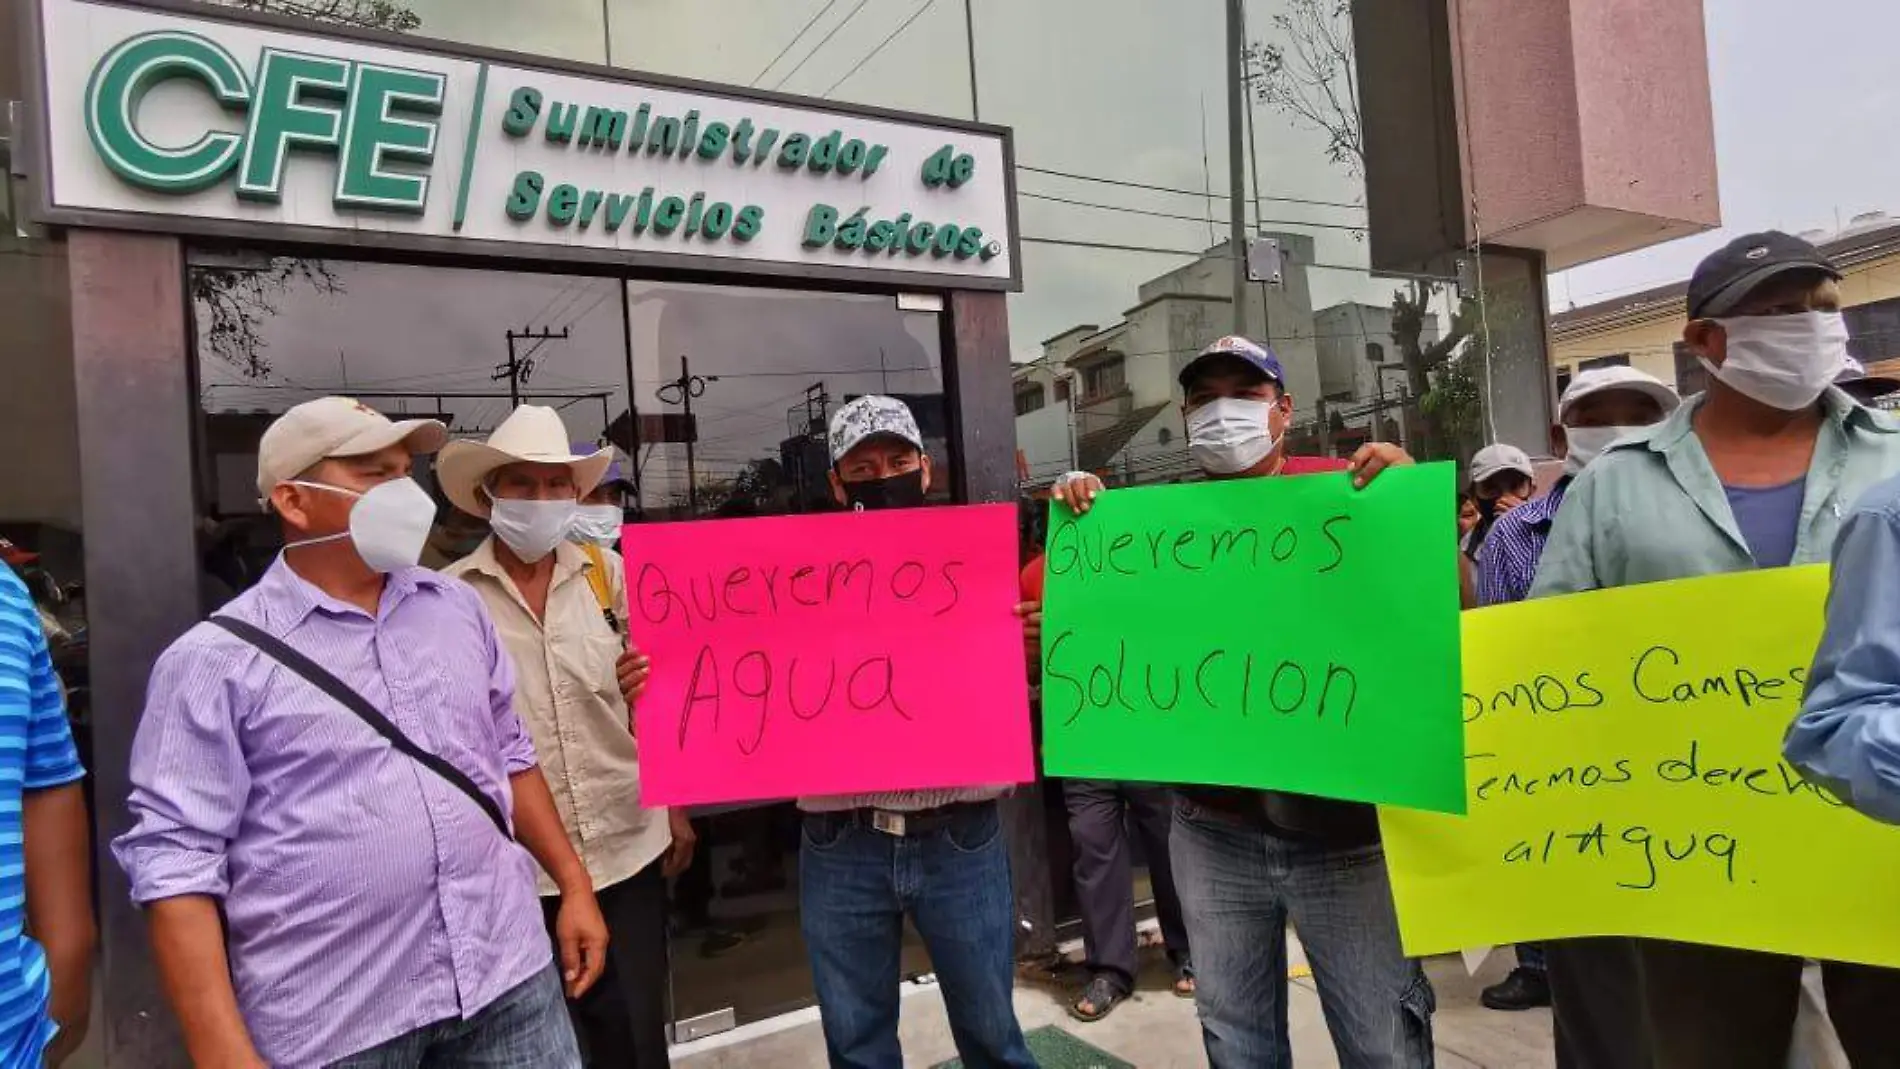
M 293 404 L 355 397 L 390 416 L 486 437 L 517 403 L 560 410 L 576 442 L 627 423 L 619 283 L 196 251 L 190 294 L 203 418 L 200 499 L 234 591 L 277 551 L 256 499 L 256 442 Z M 553 334 L 553 336 L 547 336 Z M 428 461 L 418 480 L 433 490 Z M 426 564 L 479 541 L 437 494 Z

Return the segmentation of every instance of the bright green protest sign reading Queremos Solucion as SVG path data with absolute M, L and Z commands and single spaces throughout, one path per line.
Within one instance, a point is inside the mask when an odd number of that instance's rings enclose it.
M 1053 505 L 1049 775 L 1465 811 L 1454 469 Z

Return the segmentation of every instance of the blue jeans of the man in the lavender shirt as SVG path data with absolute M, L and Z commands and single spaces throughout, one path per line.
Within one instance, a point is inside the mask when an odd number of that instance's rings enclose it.
M 560 974 L 553 965 L 483 1006 L 352 1054 L 331 1069 L 581 1069 Z

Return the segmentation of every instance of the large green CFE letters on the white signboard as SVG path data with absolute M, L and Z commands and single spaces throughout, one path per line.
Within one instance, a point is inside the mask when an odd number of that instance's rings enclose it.
M 182 146 L 144 137 L 139 104 L 175 78 L 209 89 L 243 118 L 243 131 L 211 129 Z M 428 70 L 276 47 L 253 76 L 213 40 L 158 30 L 122 42 L 93 68 L 86 131 L 120 178 L 146 190 L 192 194 L 236 171 L 239 197 L 277 203 L 294 148 L 336 158 L 336 207 L 420 215 L 446 87 L 446 76 Z

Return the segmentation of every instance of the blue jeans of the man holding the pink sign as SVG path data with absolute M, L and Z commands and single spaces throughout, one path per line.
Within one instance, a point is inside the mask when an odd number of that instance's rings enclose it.
M 994 803 L 948 826 L 887 835 L 849 813 L 809 813 L 798 911 L 834 1069 L 901 1069 L 899 959 L 904 915 L 923 936 L 969 1069 L 1036 1069 L 1011 1003 L 1015 892 Z

